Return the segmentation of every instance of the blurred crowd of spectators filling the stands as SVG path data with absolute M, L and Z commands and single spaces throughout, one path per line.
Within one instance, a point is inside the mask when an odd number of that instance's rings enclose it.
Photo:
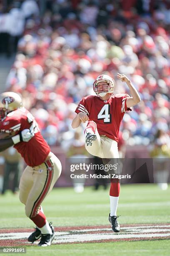
M 0 38 L 10 34 L 12 51 L 18 43 L 5 90 L 23 96 L 50 145 L 67 150 L 76 143 L 74 111 L 82 97 L 94 94 L 99 74 L 115 79 L 114 94 L 129 93 L 117 72 L 141 97 L 125 113 L 120 141 L 148 146 L 158 130 L 169 132 L 170 1 L 25 0 L 2 7 L 0 24 L 10 21 L 6 31 L 0 25 Z

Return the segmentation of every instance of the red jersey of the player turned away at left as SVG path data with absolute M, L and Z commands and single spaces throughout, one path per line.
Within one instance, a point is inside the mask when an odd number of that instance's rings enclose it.
M 31 127 L 31 128 L 30 128 Z M 23 156 L 26 164 L 37 166 L 42 164 L 50 153 L 50 147 L 42 137 L 35 118 L 25 108 L 18 108 L 7 114 L 0 122 L 0 131 L 17 135 L 23 129 L 33 129 L 35 136 L 28 142 L 19 142 L 14 148 Z

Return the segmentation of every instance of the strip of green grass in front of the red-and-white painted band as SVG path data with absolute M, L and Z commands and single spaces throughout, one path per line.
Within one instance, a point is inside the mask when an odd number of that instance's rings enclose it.
M 169 240 L 163 241 L 133 241 L 133 242 L 115 242 L 115 243 L 85 243 L 85 244 L 65 244 L 53 245 L 45 248 L 27 247 L 27 256 L 165 256 L 170 255 Z

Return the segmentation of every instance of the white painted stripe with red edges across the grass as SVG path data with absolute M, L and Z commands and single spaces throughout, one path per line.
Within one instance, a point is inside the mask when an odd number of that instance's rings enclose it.
M 106 231 L 107 233 L 102 233 Z M 97 233 L 89 233 L 97 232 Z M 163 233 L 160 233 L 163 232 Z M 168 233 L 167 233 L 168 232 Z M 85 233 L 85 234 L 81 234 Z M 1 233 L 0 240 L 17 240 L 27 239 L 30 232 L 18 233 Z M 67 232 L 55 232 L 54 243 L 75 243 L 75 242 L 90 242 L 101 240 L 114 239 L 135 239 L 135 238 L 167 238 L 170 237 L 170 225 L 145 225 L 145 226 L 126 226 L 121 228 L 120 233 L 113 233 L 111 228 L 88 228 L 88 229 L 74 229 Z M 27 243 L 25 241 L 25 243 Z

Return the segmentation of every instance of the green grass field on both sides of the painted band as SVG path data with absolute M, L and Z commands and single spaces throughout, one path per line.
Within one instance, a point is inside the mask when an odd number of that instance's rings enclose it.
M 56 227 L 109 225 L 109 189 L 86 187 L 77 194 L 72 188 L 56 188 L 43 202 L 47 220 Z M 125 224 L 170 223 L 170 187 L 162 191 L 156 184 L 122 185 L 117 215 Z M 0 228 L 33 228 L 18 195 L 0 196 Z M 108 226 L 109 227 L 109 226 Z M 66 228 L 67 229 L 67 228 Z M 144 228 L 145 229 L 145 228 Z M 122 231 L 122 230 L 121 230 Z M 120 232 L 121 233 L 121 232 Z M 117 241 L 103 243 L 27 246 L 27 255 L 170 255 L 170 240 Z

